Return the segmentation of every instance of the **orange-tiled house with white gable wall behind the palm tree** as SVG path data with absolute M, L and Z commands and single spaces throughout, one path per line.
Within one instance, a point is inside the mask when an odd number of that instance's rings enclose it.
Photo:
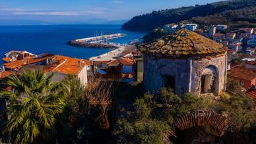
M 3 63 L 5 72 L 21 73 L 28 69 L 42 69 L 47 75 L 55 73 L 53 81 L 60 82 L 67 74 L 74 74 L 79 78 L 81 84 L 87 84 L 87 70 L 92 62 L 90 60 L 76 59 L 62 55 L 43 53 L 34 57 L 13 60 Z

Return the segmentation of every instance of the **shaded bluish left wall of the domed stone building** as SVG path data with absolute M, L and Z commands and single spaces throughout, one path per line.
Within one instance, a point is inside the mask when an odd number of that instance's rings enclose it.
M 159 59 L 143 54 L 146 91 L 157 93 L 164 86 L 163 76 L 175 77 L 177 94 L 189 92 L 190 60 Z

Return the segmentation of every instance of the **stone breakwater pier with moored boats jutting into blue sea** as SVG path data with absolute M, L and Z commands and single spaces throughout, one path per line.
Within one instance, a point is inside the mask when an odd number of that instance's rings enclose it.
M 108 40 L 125 37 L 125 34 L 110 34 L 104 36 L 87 37 L 82 39 L 75 39 L 68 42 L 69 45 L 76 47 L 96 47 L 105 49 L 117 49 L 123 45 L 118 43 L 110 43 Z

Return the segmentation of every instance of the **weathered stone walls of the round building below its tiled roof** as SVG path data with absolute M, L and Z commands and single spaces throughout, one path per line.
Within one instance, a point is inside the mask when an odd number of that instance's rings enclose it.
M 143 54 L 144 89 L 157 93 L 164 86 L 164 76 L 175 77 L 176 94 L 201 93 L 201 76 L 206 68 L 216 68 L 216 94 L 226 87 L 226 55 L 210 59 L 165 59 Z

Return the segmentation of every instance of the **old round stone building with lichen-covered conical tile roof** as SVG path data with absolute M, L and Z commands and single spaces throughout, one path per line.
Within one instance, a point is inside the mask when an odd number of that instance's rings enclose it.
M 171 87 L 178 95 L 219 95 L 226 89 L 227 49 L 207 37 L 182 29 L 139 49 L 146 91 L 157 93 L 162 87 Z

